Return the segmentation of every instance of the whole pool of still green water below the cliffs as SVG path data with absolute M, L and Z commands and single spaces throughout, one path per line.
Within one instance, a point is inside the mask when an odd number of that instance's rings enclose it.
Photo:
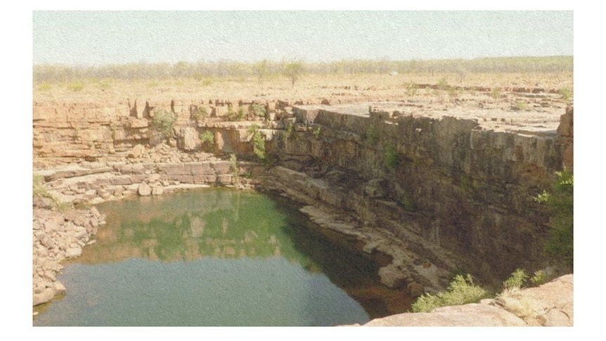
M 335 326 L 393 314 L 404 297 L 280 198 L 213 188 L 98 209 L 108 224 L 34 326 Z

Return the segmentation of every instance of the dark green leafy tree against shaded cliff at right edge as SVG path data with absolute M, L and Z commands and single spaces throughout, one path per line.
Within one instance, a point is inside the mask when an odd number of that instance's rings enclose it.
M 543 191 L 536 197 L 537 202 L 543 202 L 552 214 L 550 236 L 545 244 L 546 252 L 562 259 L 568 266 L 573 265 L 573 184 L 574 179 L 570 169 L 556 172 L 557 180 L 550 191 Z

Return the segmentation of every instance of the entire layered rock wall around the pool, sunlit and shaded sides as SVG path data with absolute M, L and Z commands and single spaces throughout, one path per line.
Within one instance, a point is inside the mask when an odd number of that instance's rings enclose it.
M 557 115 L 555 127 L 541 118 L 544 129 L 508 131 L 483 126 L 512 124 L 514 118 L 498 117 L 503 112 L 478 120 L 447 111 L 413 115 L 388 104 L 34 103 L 34 171 L 47 182 L 63 181 L 64 195 L 89 193 L 81 199 L 89 202 L 141 195 L 142 183 L 151 193 L 175 183 L 236 184 L 241 177 L 303 202 L 316 218 L 322 214 L 314 208 L 330 212 L 345 233 L 383 233 L 365 240 L 367 252 L 397 242 L 406 255 L 380 276 L 416 295 L 443 288 L 453 271 L 498 282 L 518 267 L 549 265 L 541 252 L 549 217 L 534 196 L 549 188 L 555 171 L 572 167 L 572 108 L 561 120 Z M 151 124 L 160 110 L 177 116 L 168 145 Z M 252 126 L 264 141 L 263 162 L 241 162 L 259 161 Z M 201 141 L 204 131 L 212 132 L 212 143 Z M 232 153 L 238 173 L 226 160 Z M 88 163 L 63 174 L 43 171 L 69 162 Z M 68 181 L 89 174 L 107 177 Z

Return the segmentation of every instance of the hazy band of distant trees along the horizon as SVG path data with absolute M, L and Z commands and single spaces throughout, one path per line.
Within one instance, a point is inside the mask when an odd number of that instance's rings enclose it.
M 430 75 L 441 73 L 572 72 L 572 56 L 496 57 L 446 60 L 338 60 L 307 63 L 301 60 L 260 60 L 245 63 L 231 60 L 178 63 L 127 63 L 96 66 L 36 64 L 34 82 L 67 82 L 74 79 L 193 79 L 257 77 L 276 75 L 295 79 L 308 75 L 387 75 L 392 72 Z

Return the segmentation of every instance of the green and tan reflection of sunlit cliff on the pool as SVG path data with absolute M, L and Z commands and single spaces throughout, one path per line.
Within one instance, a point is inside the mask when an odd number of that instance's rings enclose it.
M 245 200 L 243 200 L 245 196 Z M 78 263 L 145 257 L 162 262 L 202 257 L 285 257 L 310 262 L 285 234 L 288 217 L 259 193 L 225 189 L 147 197 L 99 206 L 108 214 L 97 243 Z M 309 266 L 313 269 L 314 266 Z

